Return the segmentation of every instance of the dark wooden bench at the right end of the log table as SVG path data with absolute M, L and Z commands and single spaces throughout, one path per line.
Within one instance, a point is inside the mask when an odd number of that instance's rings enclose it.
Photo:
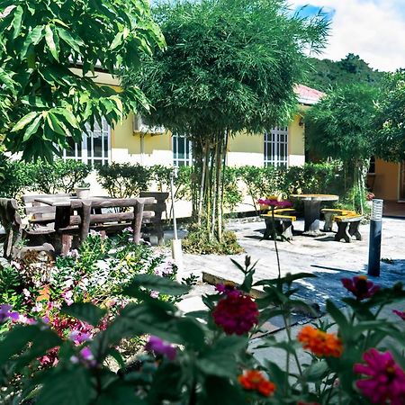
M 146 225 L 146 232 L 143 235 L 150 234 L 151 232 L 157 235 L 157 244 L 164 243 L 164 232 L 162 214 L 166 211 L 166 200 L 169 193 L 161 192 L 140 192 L 140 198 L 153 198 L 154 202 L 146 204 L 143 211 L 142 225 Z

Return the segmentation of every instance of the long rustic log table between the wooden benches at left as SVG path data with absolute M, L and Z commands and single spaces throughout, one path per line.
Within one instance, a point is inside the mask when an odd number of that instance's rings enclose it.
M 81 243 L 87 237 L 90 228 L 119 230 L 128 226 L 122 225 L 125 222 L 130 222 L 133 241 L 139 243 L 144 205 L 153 204 L 155 199 L 153 197 L 80 199 L 74 196 L 68 198 L 47 196 L 36 198 L 35 201 L 55 207 L 55 231 L 60 234 L 62 253 L 67 253 L 72 233 L 78 234 Z M 102 213 L 103 208 L 124 207 L 133 207 L 133 211 Z

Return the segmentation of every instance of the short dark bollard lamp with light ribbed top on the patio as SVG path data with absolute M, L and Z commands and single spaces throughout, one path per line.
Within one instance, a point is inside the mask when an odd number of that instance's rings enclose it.
M 368 275 L 380 275 L 381 232 L 383 228 L 383 200 L 374 198 L 370 220 L 370 241 L 368 246 Z

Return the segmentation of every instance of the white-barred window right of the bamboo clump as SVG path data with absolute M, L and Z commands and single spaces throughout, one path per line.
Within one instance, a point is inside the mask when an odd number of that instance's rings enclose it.
M 288 166 L 287 127 L 275 127 L 265 133 L 265 166 Z

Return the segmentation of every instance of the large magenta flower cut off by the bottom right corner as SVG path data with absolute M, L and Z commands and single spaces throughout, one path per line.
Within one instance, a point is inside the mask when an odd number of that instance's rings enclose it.
M 370 378 L 358 380 L 357 388 L 373 403 L 403 405 L 405 403 L 405 373 L 395 363 L 390 352 L 372 348 L 363 355 L 366 365 L 355 365 L 355 373 Z

